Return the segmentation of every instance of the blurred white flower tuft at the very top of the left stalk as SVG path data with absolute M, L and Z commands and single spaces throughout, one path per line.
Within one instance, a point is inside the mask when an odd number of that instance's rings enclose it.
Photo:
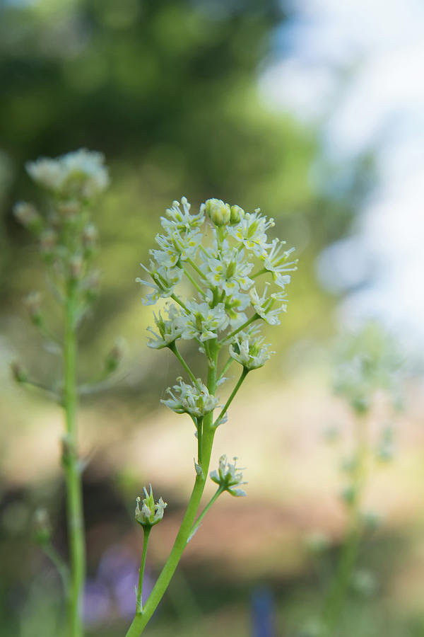
M 26 169 L 43 188 L 64 197 L 90 199 L 105 190 L 109 183 L 105 157 L 84 148 L 57 159 L 40 157 L 28 161 Z

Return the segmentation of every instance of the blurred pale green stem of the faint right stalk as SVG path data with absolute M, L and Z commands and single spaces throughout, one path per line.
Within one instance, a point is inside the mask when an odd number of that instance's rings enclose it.
M 356 423 L 355 469 L 352 476 L 353 502 L 349 509 L 348 533 L 343 544 L 337 573 L 329 587 L 322 610 L 324 629 L 329 637 L 334 635 L 346 602 L 349 583 L 360 550 L 362 535 L 361 505 L 367 478 L 367 423 L 362 416 Z

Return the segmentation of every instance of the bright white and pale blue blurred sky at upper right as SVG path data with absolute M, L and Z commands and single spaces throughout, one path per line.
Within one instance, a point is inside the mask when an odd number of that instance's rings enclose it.
M 273 108 L 318 125 L 321 154 L 346 164 L 372 150 L 377 180 L 353 236 L 329 246 L 317 276 L 343 323 L 377 317 L 424 345 L 424 3 L 305 0 L 276 36 L 261 76 Z M 372 282 L 355 287 L 372 268 Z M 338 272 L 337 277 L 334 272 Z

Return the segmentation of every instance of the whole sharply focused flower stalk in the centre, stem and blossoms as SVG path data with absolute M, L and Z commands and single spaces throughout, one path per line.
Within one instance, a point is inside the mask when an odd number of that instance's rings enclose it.
M 240 206 L 228 205 L 222 200 L 209 199 L 199 212 L 192 214 L 185 197 L 175 201 L 161 217 L 163 233 L 155 238 L 157 248 L 150 251 L 148 267 L 142 266 L 150 277 L 141 280 L 151 287 L 143 303 L 153 305 L 160 299 L 169 299 L 165 308 L 155 315 L 154 331 L 148 346 L 169 349 L 187 374 L 167 390 L 169 396 L 162 402 L 175 413 L 186 413 L 192 418 L 197 437 L 197 458 L 194 462 L 194 486 L 189 498 L 175 543 L 151 595 L 143 603 L 141 597 L 143 570 L 146 563 L 148 536 L 152 524 L 140 521 L 139 502 L 136 520 L 143 524 L 144 542 L 141 558 L 136 613 L 126 637 L 138 637 L 162 599 L 179 563 L 187 542 L 204 520 L 206 512 L 227 491 L 241 496 L 237 488 L 244 484 L 242 473 L 225 456 L 220 458 L 218 472 L 211 479 L 218 484 L 216 493 L 199 514 L 206 486 L 213 440 L 219 425 L 228 418 L 228 409 L 240 386 L 253 369 L 262 367 L 272 352 L 264 343 L 258 323 L 278 325 L 286 310 L 285 285 L 290 282 L 296 262 L 289 260 L 292 250 L 284 250 L 283 241 L 269 242 L 266 231 L 274 225 L 273 219 L 260 214 L 259 209 L 245 212 Z M 251 276 L 252 272 L 256 272 Z M 267 277 L 259 289 L 261 277 Z M 192 285 L 193 296 L 183 297 L 178 291 L 180 282 Z M 165 314 L 165 316 L 163 316 Z M 201 379 L 190 369 L 177 348 L 177 340 L 195 340 L 206 362 L 206 378 Z M 223 361 L 221 361 L 223 358 Z M 242 367 L 239 380 L 230 396 L 219 406 L 218 386 L 228 380 L 224 374 L 232 362 Z M 152 492 L 143 500 L 152 515 L 163 514 L 163 503 L 150 503 Z

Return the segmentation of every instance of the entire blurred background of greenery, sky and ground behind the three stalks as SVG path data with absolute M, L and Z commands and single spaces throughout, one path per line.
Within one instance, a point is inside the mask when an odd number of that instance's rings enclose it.
M 112 391 L 81 404 L 88 635 L 123 634 L 134 612 L 136 495 L 151 482 L 169 503 L 153 580 L 192 484 L 192 424 L 159 403 L 178 368 L 146 348 L 152 311 L 134 282 L 182 195 L 194 210 L 211 196 L 260 206 L 300 263 L 269 333 L 278 354 L 216 438 L 214 464 L 226 453 L 247 467 L 247 498 L 213 507 L 149 634 L 298 636 L 313 624 L 343 536 L 352 425 L 331 394 L 331 343 L 373 317 L 405 352 L 405 408 L 376 415 L 394 418 L 396 452 L 370 476 L 382 524 L 365 538 L 342 634 L 424 635 L 423 28 L 419 0 L 0 0 L 1 635 L 59 635 L 58 578 L 31 539 L 38 505 L 66 554 L 61 411 L 10 374 L 13 360 L 45 381 L 59 369 L 22 303 L 43 269 L 12 208 L 39 196 L 25 161 L 80 147 L 102 151 L 111 176 L 81 381 L 126 341 Z M 195 366 L 196 349 L 185 353 Z

